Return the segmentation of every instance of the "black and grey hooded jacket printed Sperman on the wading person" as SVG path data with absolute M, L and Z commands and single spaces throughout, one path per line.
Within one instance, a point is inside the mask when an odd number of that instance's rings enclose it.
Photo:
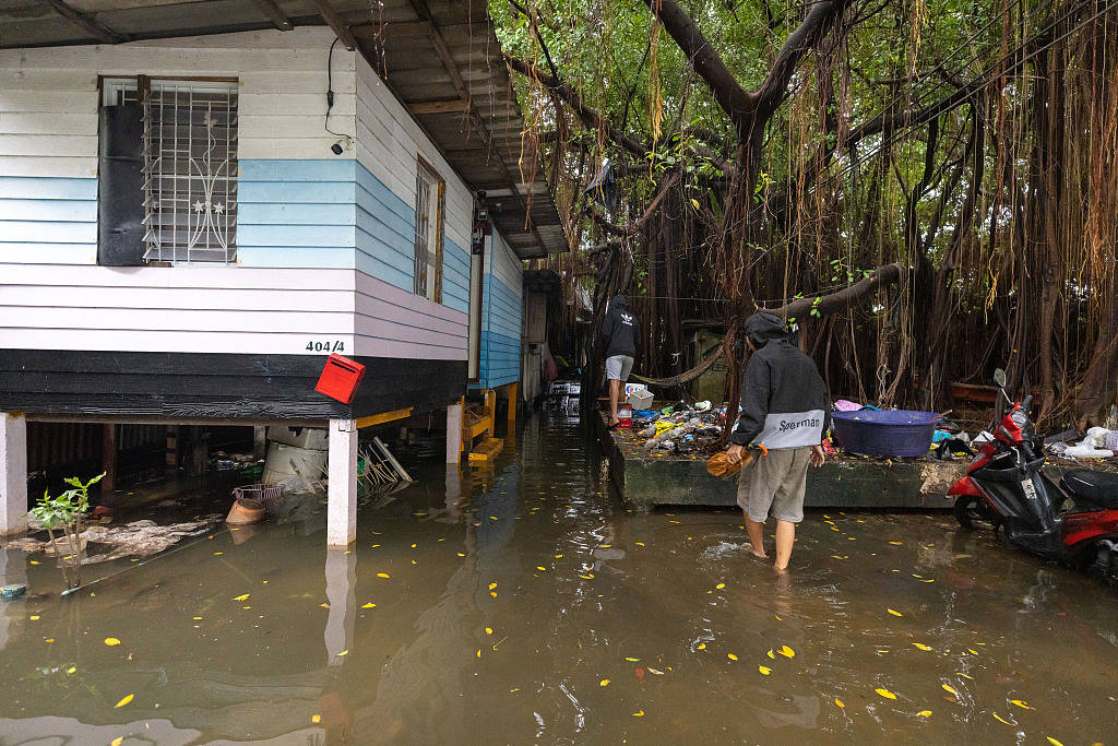
M 730 440 L 775 450 L 822 443 L 831 407 L 815 362 L 793 343 L 785 322 L 770 313 L 749 317 L 745 332 L 757 351 L 746 363 L 741 415 Z

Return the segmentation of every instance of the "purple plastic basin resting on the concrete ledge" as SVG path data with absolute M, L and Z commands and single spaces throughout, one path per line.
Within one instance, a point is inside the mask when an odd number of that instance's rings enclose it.
M 910 409 L 832 412 L 831 418 L 839 447 L 870 456 L 922 456 L 942 419 L 934 412 Z

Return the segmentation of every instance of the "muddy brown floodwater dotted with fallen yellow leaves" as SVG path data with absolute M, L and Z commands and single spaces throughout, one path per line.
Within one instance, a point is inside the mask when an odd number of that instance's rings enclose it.
M 948 514 L 809 511 L 780 576 L 737 511 L 626 512 L 577 426 L 437 461 L 349 551 L 222 525 L 69 598 L 0 553 L 0 744 L 1118 739 L 1115 589 Z

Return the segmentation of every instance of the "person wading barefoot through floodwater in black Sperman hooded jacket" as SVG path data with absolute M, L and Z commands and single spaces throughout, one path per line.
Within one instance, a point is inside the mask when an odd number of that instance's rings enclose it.
M 765 455 L 741 470 L 738 506 L 754 554 L 765 554 L 765 521 L 776 519 L 774 567 L 788 567 L 796 523 L 804 520 L 807 464 L 822 466 L 823 436 L 831 425 L 826 386 L 815 362 L 793 343 L 788 325 L 771 313 L 746 320 L 746 340 L 754 351 L 741 381 L 741 413 L 730 435 L 730 463 L 741 461 L 747 446 Z

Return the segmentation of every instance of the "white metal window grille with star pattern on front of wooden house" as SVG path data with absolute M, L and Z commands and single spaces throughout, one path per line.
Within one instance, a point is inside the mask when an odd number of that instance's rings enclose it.
M 237 83 L 140 78 L 144 258 L 237 258 Z

